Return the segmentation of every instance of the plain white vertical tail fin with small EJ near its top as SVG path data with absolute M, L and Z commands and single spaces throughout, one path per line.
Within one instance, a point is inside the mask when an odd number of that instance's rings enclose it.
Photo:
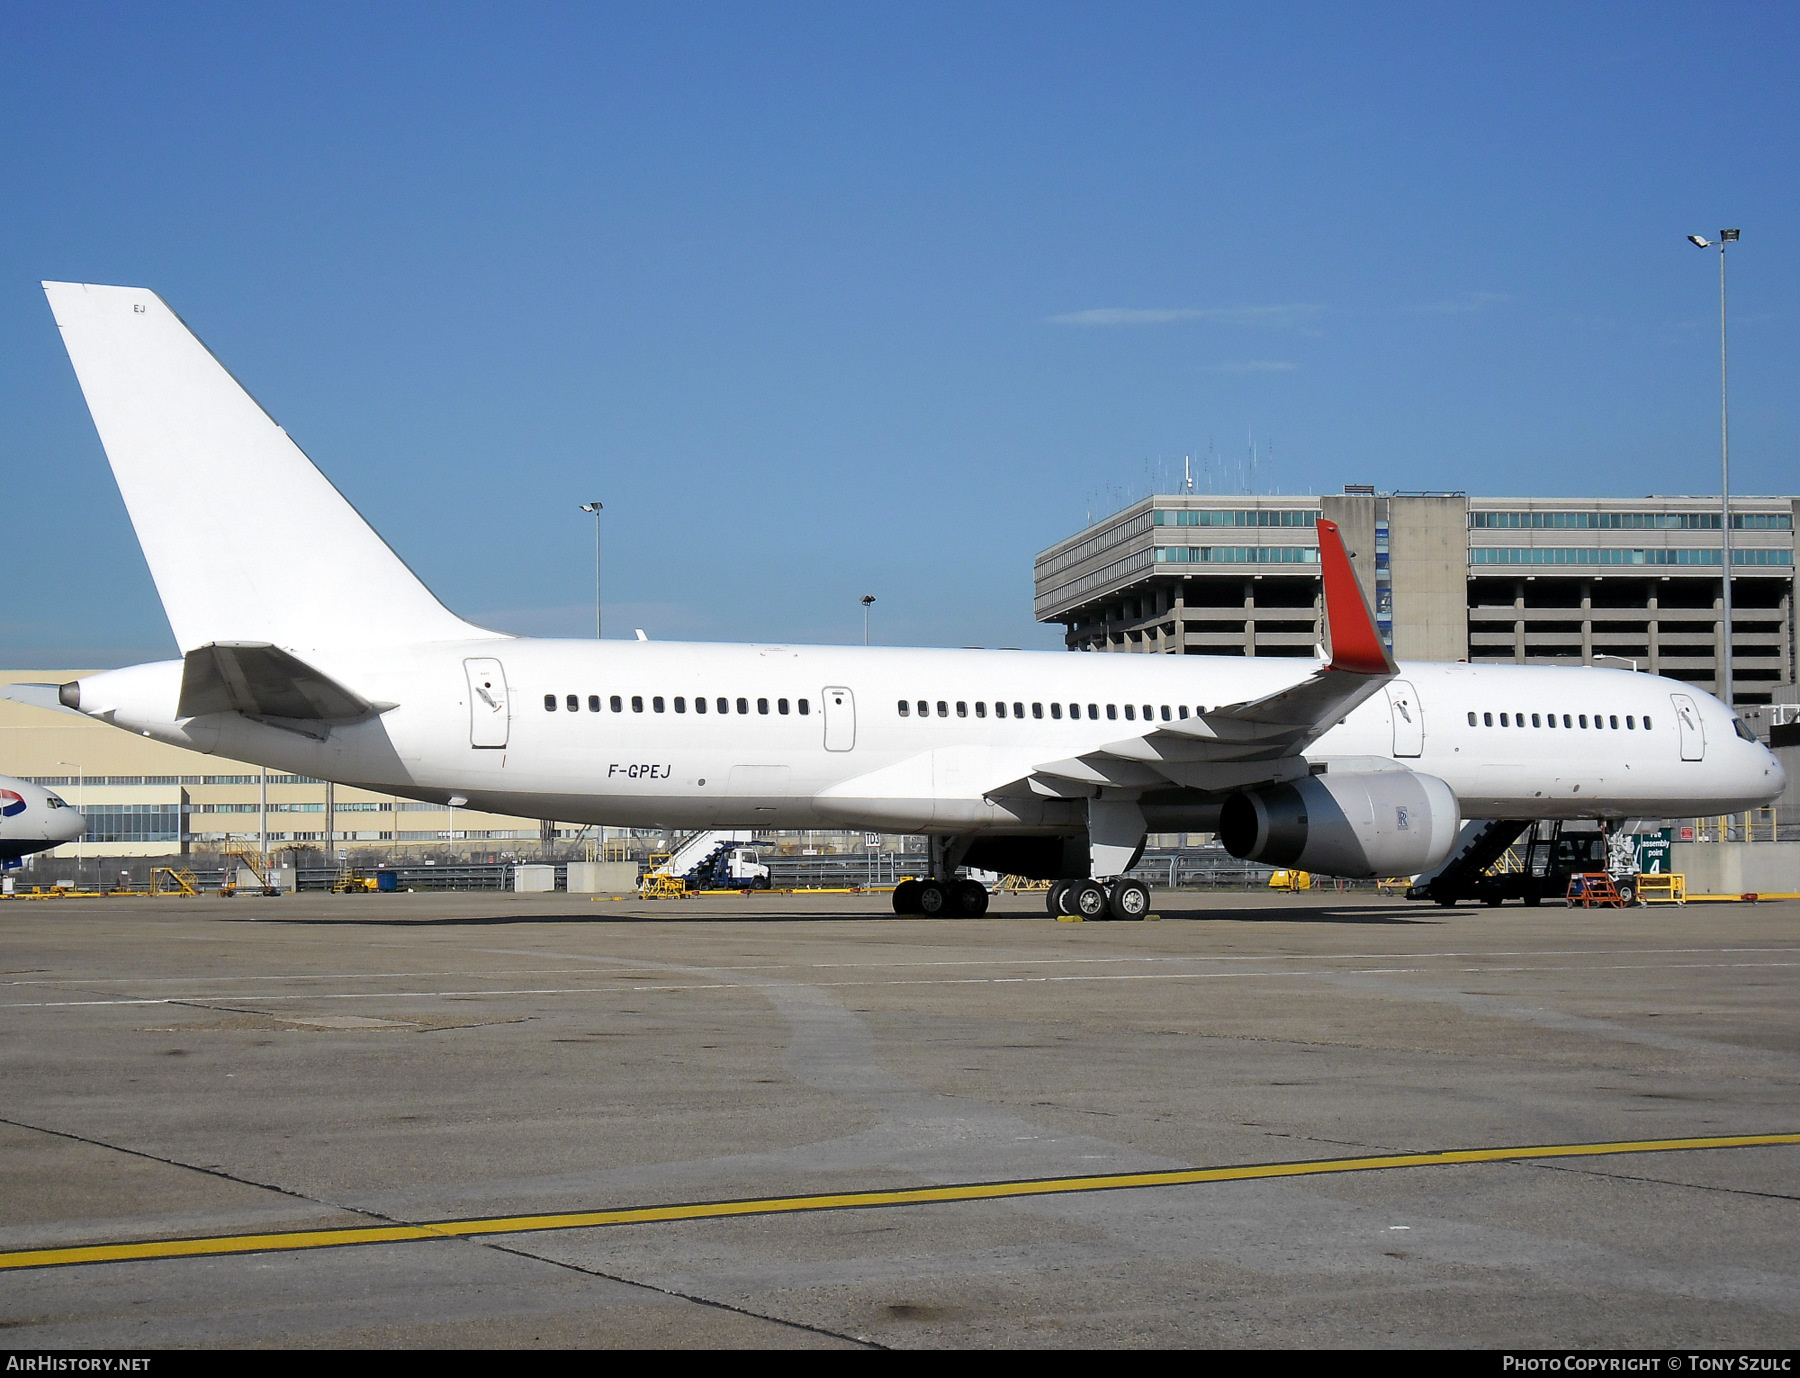
M 419 583 L 155 291 L 43 291 L 184 653 L 493 635 Z

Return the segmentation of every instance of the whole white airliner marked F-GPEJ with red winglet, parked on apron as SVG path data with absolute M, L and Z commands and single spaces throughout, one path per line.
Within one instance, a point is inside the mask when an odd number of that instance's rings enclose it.
M 956 876 L 981 867 L 1138 917 L 1123 872 L 1147 831 L 1395 876 L 1444 862 L 1460 819 L 1708 815 L 1784 788 L 1679 680 L 1397 666 L 1330 522 L 1316 664 L 499 635 L 450 613 L 153 291 L 45 291 L 184 657 L 61 702 L 158 741 L 536 819 L 923 833 L 931 878 L 895 907 L 929 914 L 979 914 Z

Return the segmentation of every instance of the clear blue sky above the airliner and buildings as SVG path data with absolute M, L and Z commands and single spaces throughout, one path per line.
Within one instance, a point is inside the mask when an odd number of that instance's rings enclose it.
M 0 9 L 0 662 L 173 653 L 36 286 L 151 286 L 457 612 L 1055 646 L 1206 484 L 1795 491 L 1791 5 Z M 279 513 L 243 513 L 279 522 Z M 293 570 L 304 579 L 306 570 Z

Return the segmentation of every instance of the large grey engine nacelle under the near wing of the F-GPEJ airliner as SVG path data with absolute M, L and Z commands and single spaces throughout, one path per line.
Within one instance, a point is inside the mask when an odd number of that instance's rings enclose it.
M 1247 862 L 1327 876 L 1415 876 L 1458 833 L 1456 792 L 1417 770 L 1309 775 L 1240 790 L 1219 811 L 1219 840 Z

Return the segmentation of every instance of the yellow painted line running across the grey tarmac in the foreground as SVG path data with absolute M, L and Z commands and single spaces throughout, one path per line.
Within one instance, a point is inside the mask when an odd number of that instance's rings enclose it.
M 1366 1159 L 1316 1159 L 1307 1162 L 1255 1162 L 1237 1168 L 1184 1168 L 1166 1173 L 1103 1173 L 1098 1177 L 1049 1177 L 1015 1182 L 968 1182 L 950 1187 L 900 1187 L 896 1191 L 842 1191 L 819 1196 L 751 1196 L 734 1202 L 686 1205 L 637 1205 L 616 1211 L 565 1211 L 544 1216 L 491 1216 L 434 1220 L 419 1225 L 353 1225 L 326 1230 L 275 1234 L 221 1234 L 191 1239 L 137 1239 L 81 1245 L 76 1248 L 22 1248 L 0 1254 L 0 1270 L 54 1268 L 72 1263 L 126 1263 L 135 1259 L 211 1257 L 220 1254 L 275 1254 L 301 1248 L 409 1243 L 414 1239 L 463 1239 L 482 1234 L 538 1234 L 583 1230 L 607 1225 L 655 1225 L 671 1220 L 727 1220 L 733 1216 L 799 1214 L 810 1211 L 855 1211 L 882 1205 L 932 1205 L 941 1202 L 994 1202 L 1013 1196 L 1057 1196 L 1075 1191 L 1130 1191 L 1138 1187 L 1186 1187 L 1201 1182 L 1255 1182 L 1280 1177 L 1327 1173 L 1373 1173 L 1393 1168 L 1447 1168 L 1467 1162 L 1519 1162 L 1526 1159 L 1586 1159 L 1613 1153 L 1679 1153 L 1710 1148 L 1766 1148 L 1800 1144 L 1800 1133 L 1733 1133 L 1705 1139 L 1625 1139 L 1604 1144 L 1530 1144 L 1517 1148 L 1453 1148 L 1442 1153 L 1386 1153 Z

